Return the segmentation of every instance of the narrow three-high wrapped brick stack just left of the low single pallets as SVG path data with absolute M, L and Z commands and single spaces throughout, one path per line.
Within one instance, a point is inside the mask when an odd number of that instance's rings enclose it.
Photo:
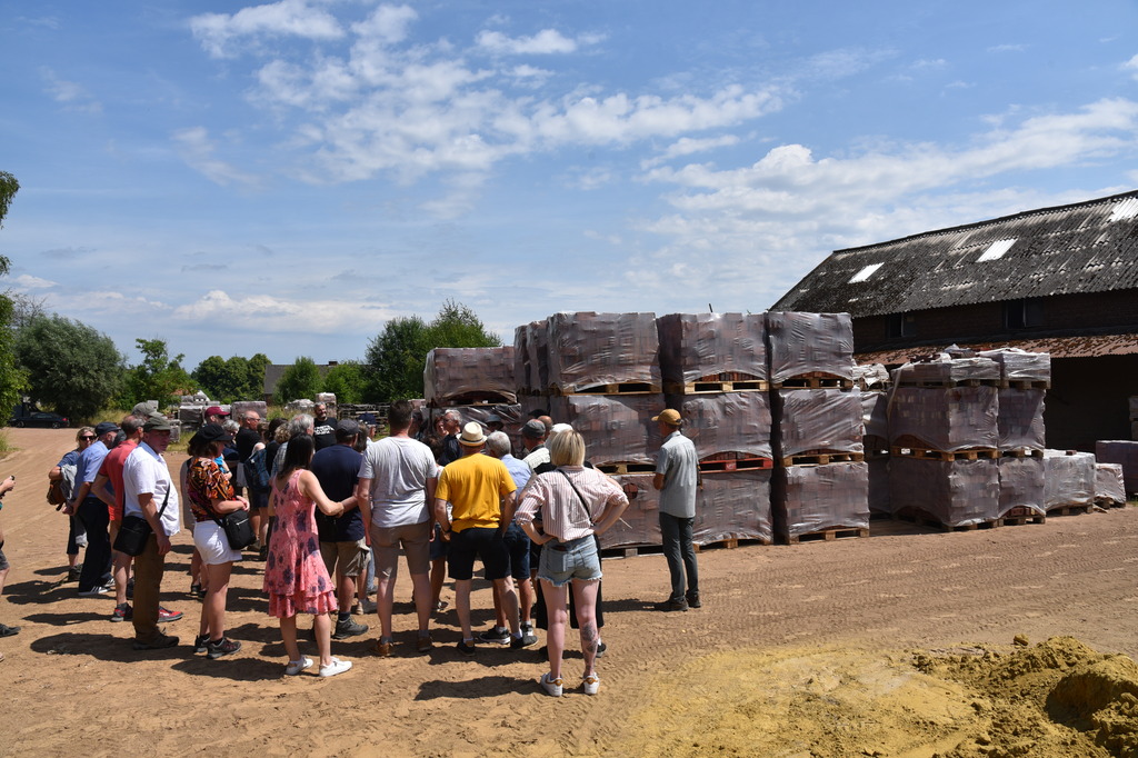
M 996 418 L 1000 452 L 998 516 L 1046 516 L 1044 397 L 1050 387 L 1050 355 L 1016 349 L 986 351 L 980 355 L 996 361 L 1000 369 Z

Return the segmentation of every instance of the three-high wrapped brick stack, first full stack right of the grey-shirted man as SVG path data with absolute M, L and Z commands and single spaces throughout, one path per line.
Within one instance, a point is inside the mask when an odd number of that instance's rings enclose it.
M 767 313 L 766 323 L 775 533 L 787 543 L 868 535 L 869 480 L 850 316 Z

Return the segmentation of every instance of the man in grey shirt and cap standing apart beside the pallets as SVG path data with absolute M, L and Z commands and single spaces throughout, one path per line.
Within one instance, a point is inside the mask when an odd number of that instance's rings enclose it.
M 663 555 L 668 559 L 668 570 L 671 572 L 671 595 L 657 604 L 657 609 L 685 611 L 701 605 L 699 568 L 695 565 L 695 546 L 692 544 L 699 460 L 695 458 L 695 445 L 679 434 L 684 420 L 678 411 L 668 409 L 652 420 L 657 422 L 660 436 L 663 437 L 663 444 L 655 456 L 652 487 L 660 491 L 660 534 L 663 537 Z

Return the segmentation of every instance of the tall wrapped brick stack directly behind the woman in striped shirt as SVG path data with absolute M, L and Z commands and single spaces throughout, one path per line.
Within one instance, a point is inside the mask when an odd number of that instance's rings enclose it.
M 523 336 L 530 354 L 523 411 L 547 409 L 554 421 L 572 425 L 589 462 L 637 493 L 624 524 L 601 535 L 602 547 L 659 545 L 652 471 L 661 439 L 651 419 L 665 402 L 655 314 L 555 313 L 541 323 Z

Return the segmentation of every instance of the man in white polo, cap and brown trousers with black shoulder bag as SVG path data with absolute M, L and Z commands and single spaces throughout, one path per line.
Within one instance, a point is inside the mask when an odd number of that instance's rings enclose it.
M 160 650 L 178 644 L 178 637 L 158 629 L 158 595 L 170 538 L 182 527 L 178 488 L 162 454 L 170 445 L 173 427 L 154 415 L 142 426 L 142 442 L 123 465 L 124 516 L 141 516 L 150 525 L 146 547 L 134 557 L 134 649 Z

